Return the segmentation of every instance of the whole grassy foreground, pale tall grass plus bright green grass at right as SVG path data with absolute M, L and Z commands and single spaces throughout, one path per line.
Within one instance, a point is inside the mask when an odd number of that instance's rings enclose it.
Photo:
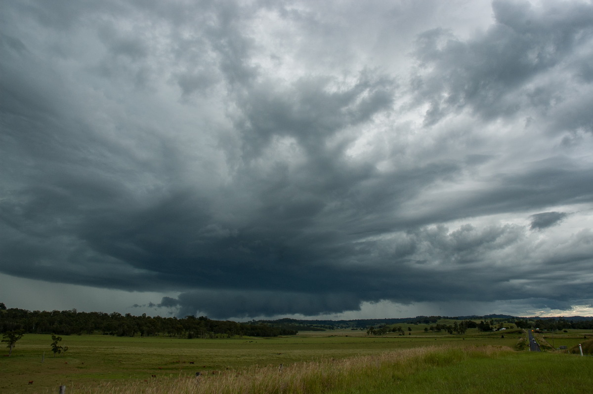
M 288 367 L 250 367 L 178 376 L 75 393 L 590 393 L 593 359 L 517 353 L 503 347 L 425 347 Z

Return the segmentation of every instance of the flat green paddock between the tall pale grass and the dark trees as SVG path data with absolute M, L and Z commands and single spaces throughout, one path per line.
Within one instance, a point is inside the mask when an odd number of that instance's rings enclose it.
M 206 380 L 244 373 L 241 371 L 279 370 L 280 364 L 286 371 L 302 363 L 331 364 L 424 348 L 451 351 L 493 347 L 507 349 L 504 357 L 524 354 L 512 351 L 524 336 L 520 332 L 412 334 L 375 337 L 361 331 L 354 335 L 350 330 L 334 330 L 301 332 L 291 337 L 229 339 L 73 335 L 63 336 L 62 344 L 69 350 L 56 357 L 51 352 L 50 335 L 25 334 L 11 357 L 0 358 L 0 392 L 50 393 L 66 385 L 78 387 L 67 393 L 101 392 L 99 387 L 110 387 L 104 392 L 123 393 L 126 391 L 117 390 L 136 383 L 177 385 L 184 379 L 196 379 L 196 372 L 201 374 L 199 379 Z M 167 392 L 159 387 L 154 392 Z

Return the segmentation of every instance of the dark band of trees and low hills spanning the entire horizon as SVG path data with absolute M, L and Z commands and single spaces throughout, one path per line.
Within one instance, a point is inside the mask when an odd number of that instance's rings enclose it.
M 105 335 L 133 337 L 168 335 L 187 338 L 218 338 L 232 335 L 256 337 L 276 337 L 278 335 L 297 334 L 298 331 L 326 331 L 334 329 L 367 330 L 371 327 L 382 329 L 385 326 L 419 324 L 451 325 L 452 321 L 474 321 L 478 325 L 499 325 L 501 322 L 514 323 L 518 328 L 538 328 L 557 330 L 566 328 L 593 329 L 593 318 L 588 316 L 540 316 L 518 317 L 511 315 L 470 315 L 470 316 L 416 316 L 414 318 L 352 319 L 352 320 L 305 320 L 276 319 L 259 320 L 246 323 L 217 321 L 206 316 L 185 316 L 185 318 L 163 318 L 161 316 L 121 315 L 113 312 L 78 312 L 71 310 L 52 310 L 51 312 L 18 308 L 7 308 L 0 302 L 0 332 L 24 329 L 25 332 L 44 334 L 92 334 L 101 332 Z M 493 321 L 493 322 L 492 322 Z

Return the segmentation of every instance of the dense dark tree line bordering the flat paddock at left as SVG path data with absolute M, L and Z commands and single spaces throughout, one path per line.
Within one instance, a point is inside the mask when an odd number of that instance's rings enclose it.
M 81 335 L 103 334 L 119 337 L 165 335 L 177 338 L 278 337 L 298 331 L 264 323 L 218 321 L 206 316 L 163 318 L 162 316 L 122 315 L 118 312 L 78 312 L 71 310 L 25 310 L 6 308 L 0 303 L 0 332 L 22 330 L 28 334 Z

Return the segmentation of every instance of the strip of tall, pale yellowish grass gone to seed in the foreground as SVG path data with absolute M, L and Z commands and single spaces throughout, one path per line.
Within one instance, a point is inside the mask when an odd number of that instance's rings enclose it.
M 208 393 L 208 394 L 321 394 L 391 392 L 413 381 L 421 372 L 454 366 L 468 360 L 500 358 L 509 348 L 412 348 L 343 360 L 310 361 L 290 366 L 250 367 L 210 371 L 199 377 L 177 376 L 145 380 L 125 386 L 104 384 L 75 387 L 76 393 Z M 398 390 L 401 391 L 401 390 Z

